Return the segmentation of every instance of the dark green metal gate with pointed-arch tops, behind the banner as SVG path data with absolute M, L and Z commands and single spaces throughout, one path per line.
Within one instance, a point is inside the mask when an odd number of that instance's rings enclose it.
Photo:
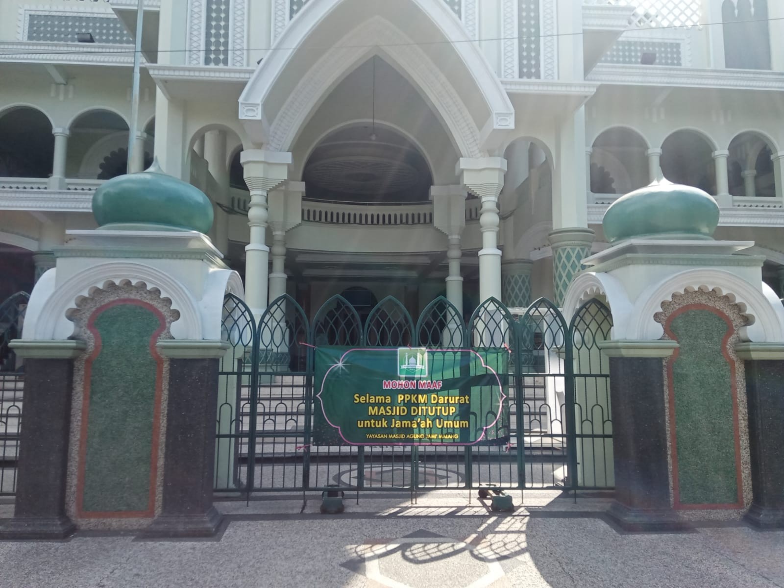
M 592 299 L 570 323 L 546 299 L 522 315 L 495 299 L 467 324 L 439 297 L 412 319 L 392 297 L 361 316 L 334 296 L 312 322 L 290 296 L 258 324 L 228 295 L 216 419 L 216 492 L 412 491 L 417 488 L 612 488 L 608 362 L 612 315 Z M 320 345 L 504 349 L 509 441 L 479 446 L 315 446 L 314 349 Z

